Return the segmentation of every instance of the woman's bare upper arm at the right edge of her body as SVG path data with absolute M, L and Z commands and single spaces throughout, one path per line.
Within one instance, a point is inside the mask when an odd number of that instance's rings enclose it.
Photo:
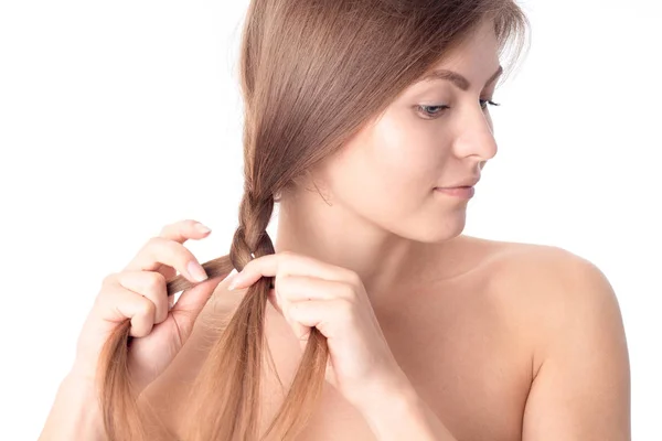
M 559 258 L 545 278 L 542 362 L 523 440 L 630 440 L 630 367 L 616 294 L 589 261 L 569 252 Z

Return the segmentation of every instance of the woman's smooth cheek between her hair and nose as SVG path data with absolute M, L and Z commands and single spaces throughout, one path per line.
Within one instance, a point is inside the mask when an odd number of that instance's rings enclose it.
M 406 115 L 384 116 L 327 163 L 327 183 L 366 217 L 404 219 L 430 203 L 445 163 L 444 133 Z M 436 130 L 436 131 L 435 131 Z

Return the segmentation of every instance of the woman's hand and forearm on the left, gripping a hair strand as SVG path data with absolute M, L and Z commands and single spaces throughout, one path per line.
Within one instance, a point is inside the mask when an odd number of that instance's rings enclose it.
M 128 365 L 137 392 L 170 365 L 221 281 L 205 280 L 202 266 L 183 246 L 210 233 L 209 227 L 191 219 L 167 225 L 122 271 L 104 279 L 81 331 L 74 366 L 58 389 L 40 440 L 104 439 L 96 405 L 97 361 L 110 331 L 125 320 L 130 319 L 130 335 L 135 337 Z M 166 280 L 177 272 L 199 284 L 173 303 L 167 295 Z

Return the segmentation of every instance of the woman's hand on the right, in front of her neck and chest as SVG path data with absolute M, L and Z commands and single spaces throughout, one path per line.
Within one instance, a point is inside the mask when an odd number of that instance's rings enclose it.
M 329 381 L 354 406 L 409 387 L 377 322 L 361 278 L 346 268 L 291 251 L 263 256 L 234 276 L 231 289 L 275 277 L 269 300 L 305 347 L 311 327 L 325 337 Z

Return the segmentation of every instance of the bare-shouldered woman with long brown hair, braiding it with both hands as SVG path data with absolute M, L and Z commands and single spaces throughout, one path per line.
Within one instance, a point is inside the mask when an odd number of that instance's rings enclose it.
M 629 439 L 605 276 L 461 235 L 525 25 L 511 0 L 252 1 L 229 255 L 201 268 L 185 220 L 108 276 L 41 439 Z

